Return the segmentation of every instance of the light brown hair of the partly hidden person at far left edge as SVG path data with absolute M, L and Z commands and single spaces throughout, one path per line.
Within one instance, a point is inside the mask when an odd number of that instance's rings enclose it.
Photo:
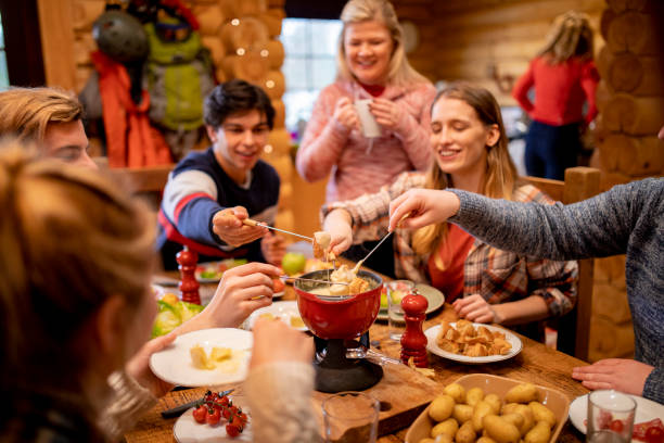
M 42 141 L 49 123 L 82 118 L 84 109 L 72 93 L 55 88 L 11 88 L 0 92 L 0 136 Z

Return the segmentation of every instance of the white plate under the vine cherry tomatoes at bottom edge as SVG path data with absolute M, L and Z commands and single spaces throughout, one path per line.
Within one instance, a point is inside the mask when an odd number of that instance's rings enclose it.
M 233 398 L 233 403 L 235 403 Z M 251 442 L 252 441 L 252 418 L 248 410 L 242 406 L 242 412 L 250 415 L 250 421 L 244 427 L 242 433 L 235 438 L 228 436 L 226 433 L 226 425 L 228 420 L 221 417 L 219 423 L 209 426 L 207 423 L 199 423 L 193 418 L 193 410 L 187 410 L 178 418 L 173 426 L 173 434 L 179 443 L 202 443 L 202 442 Z

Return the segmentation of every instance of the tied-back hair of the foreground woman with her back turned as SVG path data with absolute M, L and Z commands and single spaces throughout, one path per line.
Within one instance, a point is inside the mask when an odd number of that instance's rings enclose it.
M 81 331 L 111 296 L 124 298 L 133 320 L 155 220 L 100 172 L 36 159 L 25 143 L 0 143 L 0 390 L 16 404 L 36 394 L 68 404 L 94 429 L 98 405 L 81 381 L 91 339 Z

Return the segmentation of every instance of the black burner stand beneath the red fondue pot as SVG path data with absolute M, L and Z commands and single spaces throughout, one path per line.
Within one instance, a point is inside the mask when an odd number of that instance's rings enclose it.
M 366 344 L 365 344 L 366 339 Z M 383 368 L 367 358 L 346 357 L 348 340 L 323 340 L 316 342 L 316 390 L 335 393 L 342 391 L 363 391 L 383 378 Z M 369 332 L 360 338 L 360 343 L 369 347 Z

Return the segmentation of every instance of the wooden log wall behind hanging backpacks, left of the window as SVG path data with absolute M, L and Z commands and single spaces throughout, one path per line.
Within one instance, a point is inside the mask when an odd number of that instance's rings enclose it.
M 92 24 L 103 12 L 105 0 L 38 1 L 47 84 L 78 92 L 92 72 L 90 53 L 97 49 Z M 245 79 L 261 86 L 272 100 L 277 116 L 264 157 L 274 166 L 282 182 L 277 225 L 292 230 L 293 165 L 281 100 L 285 85 L 281 74 L 284 51 L 277 39 L 285 15 L 283 0 L 187 3 L 201 24 L 201 37 L 212 52 L 217 80 Z

